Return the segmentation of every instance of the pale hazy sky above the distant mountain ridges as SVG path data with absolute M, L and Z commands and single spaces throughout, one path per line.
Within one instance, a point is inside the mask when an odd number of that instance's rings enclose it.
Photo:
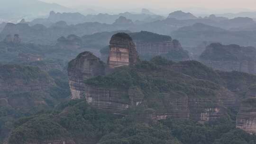
M 244 8 L 256 10 L 256 0 L 41 0 L 54 2 L 66 7 L 93 5 L 105 8 Z

